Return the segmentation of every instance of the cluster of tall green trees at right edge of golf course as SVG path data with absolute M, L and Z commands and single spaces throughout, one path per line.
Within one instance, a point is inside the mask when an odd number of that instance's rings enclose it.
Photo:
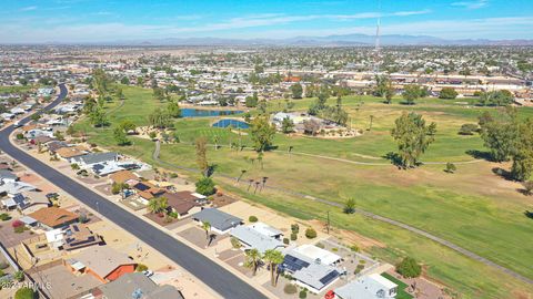
M 533 120 L 520 120 L 516 110 L 483 113 L 479 118 L 481 137 L 495 162 L 513 161 L 511 175 L 526 181 L 533 174 Z

